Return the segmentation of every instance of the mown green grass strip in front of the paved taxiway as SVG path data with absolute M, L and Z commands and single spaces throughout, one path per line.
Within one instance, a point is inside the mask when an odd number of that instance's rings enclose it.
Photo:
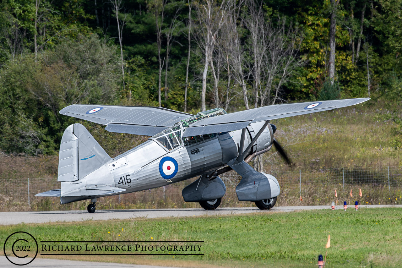
M 204 256 L 102 256 L 101 259 L 200 267 L 212 264 L 316 267 L 318 255 L 325 254 L 324 246 L 330 234 L 326 267 L 398 267 L 402 264 L 402 216 L 398 208 L 19 224 L 0 226 L 0 246 L 16 231 L 31 233 L 37 241 L 205 241 L 201 252 Z

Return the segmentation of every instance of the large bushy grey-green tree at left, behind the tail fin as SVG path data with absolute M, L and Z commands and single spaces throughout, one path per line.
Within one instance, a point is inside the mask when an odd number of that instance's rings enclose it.
M 70 104 L 115 104 L 119 96 L 116 47 L 97 35 L 79 35 L 35 54 L 17 56 L 0 70 L 0 150 L 37 155 L 55 153 L 72 121 L 59 111 Z

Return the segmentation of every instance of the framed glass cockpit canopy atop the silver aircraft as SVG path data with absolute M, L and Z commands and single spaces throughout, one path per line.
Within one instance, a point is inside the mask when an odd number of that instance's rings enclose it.
M 188 119 L 181 120 L 180 122 L 174 124 L 174 126 L 172 128 L 168 128 L 162 132 L 159 132 L 155 136 L 152 136 L 152 139 L 154 139 L 157 142 L 159 142 L 160 144 L 162 144 L 162 146 L 164 146 L 166 149 L 172 150 L 183 144 L 183 140 L 181 137 L 182 137 L 184 128 L 187 128 L 191 124 L 193 124 L 203 118 L 213 117 L 213 116 L 223 115 L 223 114 L 226 114 L 226 111 L 222 108 L 215 108 L 215 109 L 211 109 L 208 111 L 199 112 L 196 115 L 193 115 Z M 203 136 L 205 136 L 205 135 L 203 135 Z M 210 136 L 211 136 L 211 134 L 209 134 L 208 137 L 210 138 Z M 191 138 L 193 138 L 193 137 L 191 137 Z M 201 140 L 203 140 L 203 139 L 201 139 Z M 189 143 L 189 141 L 186 140 L 186 145 L 187 144 L 191 144 L 191 143 Z

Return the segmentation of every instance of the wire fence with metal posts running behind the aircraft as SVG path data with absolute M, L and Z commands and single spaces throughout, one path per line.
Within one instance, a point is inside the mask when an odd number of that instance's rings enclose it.
M 330 205 L 347 201 L 361 204 L 402 204 L 402 168 L 334 168 L 323 170 L 273 170 L 281 187 L 277 206 Z M 221 206 L 250 206 L 250 202 L 239 202 L 236 185 L 241 177 L 231 171 L 221 175 L 226 184 L 226 195 Z M 100 198 L 99 209 L 119 208 L 188 208 L 198 207 L 195 203 L 184 202 L 181 191 L 196 178 L 173 183 L 165 187 Z M 0 179 L 0 210 L 69 210 L 85 209 L 88 200 L 60 205 L 59 198 L 35 197 L 47 190 L 59 189 L 56 178 L 16 178 Z M 359 196 L 359 189 L 362 196 Z M 338 197 L 335 197 L 335 190 Z M 351 196 L 352 192 L 352 196 Z

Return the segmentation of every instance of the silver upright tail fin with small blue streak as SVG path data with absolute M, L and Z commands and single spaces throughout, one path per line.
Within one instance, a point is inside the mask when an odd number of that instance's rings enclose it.
M 64 131 L 59 153 L 57 181 L 76 181 L 98 169 L 111 158 L 81 124 Z

